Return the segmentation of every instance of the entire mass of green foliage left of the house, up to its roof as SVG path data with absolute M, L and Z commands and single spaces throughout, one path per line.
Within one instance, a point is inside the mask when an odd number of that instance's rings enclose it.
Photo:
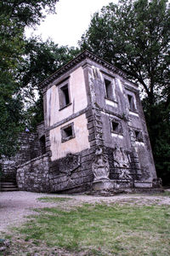
M 42 95 L 37 84 L 77 54 L 77 49 L 59 48 L 40 38 L 26 40 L 24 36 L 26 26 L 36 26 L 46 13 L 55 13 L 57 2 L 0 3 L 0 156 L 15 153 L 17 135 L 25 130 L 25 125 L 35 130 L 42 121 Z

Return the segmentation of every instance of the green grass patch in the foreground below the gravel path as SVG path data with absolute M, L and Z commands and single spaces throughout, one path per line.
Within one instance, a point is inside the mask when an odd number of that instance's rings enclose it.
M 84 255 L 169 256 L 168 206 L 102 203 L 84 204 L 70 212 L 57 207 L 37 211 L 40 214 L 18 230 L 20 238 L 37 246 L 46 243 Z

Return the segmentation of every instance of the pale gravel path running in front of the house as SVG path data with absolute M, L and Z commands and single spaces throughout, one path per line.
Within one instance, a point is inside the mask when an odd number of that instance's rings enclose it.
M 55 203 L 37 201 L 40 197 L 69 197 L 72 200 L 66 201 L 63 207 L 74 207 L 83 202 L 95 203 L 138 203 L 139 205 L 166 204 L 170 205 L 170 197 L 162 195 L 114 195 L 114 196 L 93 196 L 93 195 L 50 195 L 31 193 L 24 191 L 1 192 L 0 193 L 0 232 L 8 230 L 12 226 L 19 225 L 26 221 L 26 216 L 33 213 L 33 208 L 54 207 Z

